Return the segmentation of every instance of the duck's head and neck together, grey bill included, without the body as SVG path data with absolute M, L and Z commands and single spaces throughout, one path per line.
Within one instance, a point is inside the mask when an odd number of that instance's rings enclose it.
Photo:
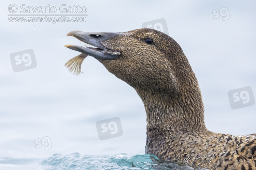
M 204 127 L 197 79 L 174 39 L 153 29 L 123 33 L 71 31 L 68 35 L 96 48 L 66 47 L 93 56 L 136 89 L 145 105 L 150 128 L 176 126 L 175 121 L 183 128 Z M 71 66 L 73 62 L 67 64 Z

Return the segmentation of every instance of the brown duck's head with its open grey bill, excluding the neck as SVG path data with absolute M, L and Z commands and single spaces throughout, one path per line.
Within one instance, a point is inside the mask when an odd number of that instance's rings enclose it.
M 190 67 L 186 66 L 186 57 L 176 41 L 157 30 L 137 29 L 124 33 L 71 31 L 68 35 L 96 48 L 66 47 L 95 57 L 109 72 L 137 91 L 177 92 L 178 63 L 183 62 L 186 69 Z

